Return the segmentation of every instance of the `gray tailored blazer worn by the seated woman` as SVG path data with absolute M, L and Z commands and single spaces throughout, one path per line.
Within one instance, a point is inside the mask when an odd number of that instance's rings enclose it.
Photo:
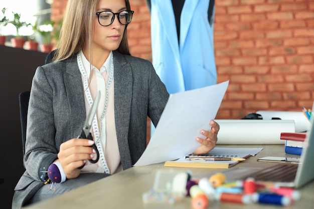
M 114 115 L 123 169 L 146 148 L 147 116 L 156 125 L 169 94 L 152 64 L 113 52 Z M 86 111 L 76 56 L 38 67 L 33 78 L 27 123 L 25 173 L 12 207 L 20 208 L 44 185 L 41 169 L 57 158 L 61 143 L 77 137 Z

